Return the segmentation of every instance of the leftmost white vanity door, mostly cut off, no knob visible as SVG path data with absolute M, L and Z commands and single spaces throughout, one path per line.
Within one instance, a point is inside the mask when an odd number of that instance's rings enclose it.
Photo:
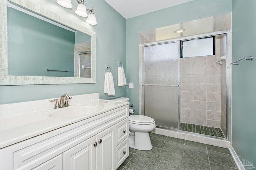
M 62 170 L 62 154 L 48 160 L 33 170 Z

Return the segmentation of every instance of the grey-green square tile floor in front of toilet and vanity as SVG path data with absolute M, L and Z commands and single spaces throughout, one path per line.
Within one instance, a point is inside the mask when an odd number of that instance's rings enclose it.
M 228 149 L 150 133 L 152 150 L 129 149 L 118 170 L 236 170 Z

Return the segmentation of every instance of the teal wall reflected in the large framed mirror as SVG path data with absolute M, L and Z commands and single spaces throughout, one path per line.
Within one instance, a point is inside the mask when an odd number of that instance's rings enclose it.
M 74 44 L 74 32 L 8 8 L 8 75 L 74 77 Z

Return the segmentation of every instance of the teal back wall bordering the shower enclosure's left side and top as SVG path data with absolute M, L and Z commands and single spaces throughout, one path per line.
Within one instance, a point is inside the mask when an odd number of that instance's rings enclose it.
M 176 23 L 198 20 L 231 12 L 231 0 L 194 0 L 142 16 L 126 20 L 126 63 L 127 82 L 134 82 L 134 88 L 127 87 L 127 97 L 134 104 L 138 114 L 139 103 L 139 49 L 138 32 Z

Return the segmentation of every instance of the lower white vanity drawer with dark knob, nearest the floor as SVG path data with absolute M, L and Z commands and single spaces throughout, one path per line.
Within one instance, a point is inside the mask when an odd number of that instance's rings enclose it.
M 116 168 L 118 168 L 129 156 L 129 138 L 127 137 L 116 147 Z

